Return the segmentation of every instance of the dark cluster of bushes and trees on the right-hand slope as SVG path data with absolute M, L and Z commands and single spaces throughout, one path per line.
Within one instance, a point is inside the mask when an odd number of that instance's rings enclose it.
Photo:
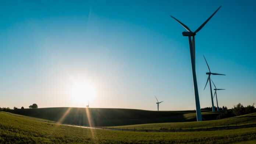
M 230 118 L 232 116 L 240 116 L 245 114 L 251 114 L 253 112 L 256 112 L 255 107 L 253 105 L 248 105 L 247 107 L 243 107 L 241 103 L 238 103 L 237 105 L 234 105 L 234 108 L 225 111 L 225 113 L 220 114 L 217 116 L 217 119 L 223 119 L 223 118 Z

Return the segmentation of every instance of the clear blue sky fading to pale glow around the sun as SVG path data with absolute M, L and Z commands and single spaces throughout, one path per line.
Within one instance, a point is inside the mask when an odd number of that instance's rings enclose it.
M 256 102 L 256 2 L 1 1 L 0 107 L 195 109 L 185 30 L 196 30 L 200 106 Z M 216 99 L 214 99 L 216 105 Z

